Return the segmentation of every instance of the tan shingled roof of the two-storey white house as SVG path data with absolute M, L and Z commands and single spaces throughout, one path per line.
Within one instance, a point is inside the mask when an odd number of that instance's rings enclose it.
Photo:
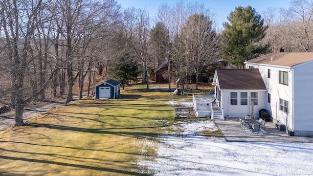
M 269 53 L 245 63 L 265 64 L 272 66 L 296 66 L 313 60 L 313 52 L 280 52 Z

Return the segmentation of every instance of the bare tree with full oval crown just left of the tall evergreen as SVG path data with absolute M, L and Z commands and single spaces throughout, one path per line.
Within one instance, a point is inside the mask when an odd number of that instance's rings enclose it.
M 202 5 L 192 6 L 196 13 L 189 16 L 184 28 L 186 33 L 188 56 L 196 73 L 196 89 L 199 84 L 199 75 L 203 67 L 209 62 L 217 60 L 220 55 L 221 36 L 215 31 L 214 23 L 209 10 Z M 205 14 L 205 15 L 204 15 Z

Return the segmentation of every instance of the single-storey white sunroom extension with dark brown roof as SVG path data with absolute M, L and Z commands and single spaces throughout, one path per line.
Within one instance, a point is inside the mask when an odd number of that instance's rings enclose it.
M 259 117 L 259 110 L 266 108 L 267 89 L 259 69 L 216 69 L 213 85 L 215 99 L 223 116 Z

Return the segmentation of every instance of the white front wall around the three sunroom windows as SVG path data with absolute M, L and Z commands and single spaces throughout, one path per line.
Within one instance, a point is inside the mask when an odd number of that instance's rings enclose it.
M 237 105 L 230 105 L 230 92 L 237 92 Z M 248 105 L 240 105 L 240 92 L 247 92 Z M 251 115 L 250 92 L 258 92 L 258 105 L 254 105 L 254 117 L 259 118 L 259 110 L 266 109 L 267 91 L 266 90 L 222 90 L 222 104 L 224 117 L 240 117 Z

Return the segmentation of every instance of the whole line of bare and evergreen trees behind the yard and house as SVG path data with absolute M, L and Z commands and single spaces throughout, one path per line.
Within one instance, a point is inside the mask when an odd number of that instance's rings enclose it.
M 115 0 L 1 0 L 0 103 L 15 109 L 21 126 L 30 102 L 66 96 L 67 104 L 73 88 L 82 98 L 94 74 L 122 88 L 140 77 L 149 89 L 154 69 L 166 63 L 169 89 L 178 78 L 198 88 L 201 74 L 212 74 L 208 69 L 222 59 L 242 67 L 281 47 L 312 51 L 313 3 L 291 3 L 262 16 L 251 6 L 235 7 L 219 30 L 214 14 L 197 2 L 164 2 L 153 19 Z

